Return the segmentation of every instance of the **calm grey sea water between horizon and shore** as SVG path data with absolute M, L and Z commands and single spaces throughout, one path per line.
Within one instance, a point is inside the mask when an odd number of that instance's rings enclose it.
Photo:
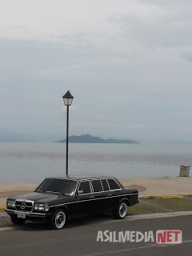
M 192 165 L 192 144 L 70 144 L 69 174 L 118 178 L 178 176 Z M 65 175 L 64 143 L 0 143 L 0 182 Z

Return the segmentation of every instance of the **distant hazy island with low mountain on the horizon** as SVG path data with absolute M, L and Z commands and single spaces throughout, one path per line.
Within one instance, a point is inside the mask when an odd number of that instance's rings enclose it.
M 66 142 L 66 139 L 59 142 Z M 85 134 L 80 136 L 74 136 L 74 135 L 70 136 L 69 142 L 70 143 L 130 143 L 130 144 L 139 143 L 139 142 L 132 141 L 130 139 L 115 139 L 115 138 L 103 139 L 103 138 L 91 136 L 90 134 Z

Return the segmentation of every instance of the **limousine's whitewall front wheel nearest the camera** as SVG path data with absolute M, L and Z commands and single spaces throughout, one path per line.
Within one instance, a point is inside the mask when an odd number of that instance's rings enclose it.
M 66 224 L 66 213 L 62 209 L 55 210 L 50 218 L 50 226 L 54 230 L 61 230 Z

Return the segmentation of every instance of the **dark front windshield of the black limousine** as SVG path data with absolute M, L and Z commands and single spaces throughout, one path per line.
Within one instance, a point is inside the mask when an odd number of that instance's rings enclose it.
M 77 181 L 62 178 L 46 178 L 35 191 L 58 192 L 62 194 L 74 194 Z

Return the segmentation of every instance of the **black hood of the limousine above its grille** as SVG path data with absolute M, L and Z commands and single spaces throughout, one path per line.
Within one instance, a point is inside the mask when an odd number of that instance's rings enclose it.
M 26 194 L 18 194 L 15 195 L 9 199 L 17 200 L 17 199 L 23 199 L 23 200 L 31 200 L 34 202 L 50 202 L 57 200 L 59 198 L 69 198 L 70 195 L 67 194 L 53 194 L 51 192 L 46 193 L 46 192 L 31 192 L 31 193 L 26 193 Z

